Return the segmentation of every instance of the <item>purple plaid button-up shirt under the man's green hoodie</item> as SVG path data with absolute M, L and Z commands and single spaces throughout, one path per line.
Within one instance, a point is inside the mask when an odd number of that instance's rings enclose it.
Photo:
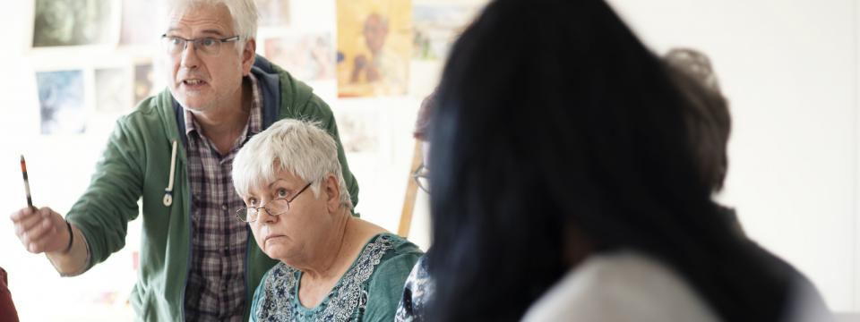
M 253 74 L 254 100 L 245 130 L 221 156 L 185 111 L 188 181 L 192 191 L 191 274 L 185 289 L 185 320 L 241 321 L 245 314 L 245 252 L 248 231 L 234 216 L 245 207 L 233 188 L 233 158 L 245 141 L 262 129 L 262 97 Z

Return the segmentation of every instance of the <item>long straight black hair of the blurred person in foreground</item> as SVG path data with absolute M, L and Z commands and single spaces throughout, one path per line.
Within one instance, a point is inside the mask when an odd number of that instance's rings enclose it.
M 600 0 L 496 0 L 453 47 L 430 126 L 437 321 L 512 321 L 590 252 L 672 267 L 721 317 L 777 320 L 785 277 L 710 200 L 691 104 Z

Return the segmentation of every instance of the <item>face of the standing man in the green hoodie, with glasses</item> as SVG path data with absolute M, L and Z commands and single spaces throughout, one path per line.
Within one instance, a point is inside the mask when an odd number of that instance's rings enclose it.
M 224 39 L 236 34 L 227 6 L 198 4 L 171 13 L 167 36 Z M 254 40 L 246 42 L 242 53 L 236 51 L 238 41 L 220 43 L 217 54 L 203 53 L 192 42 L 176 54 L 165 53 L 170 71 L 168 87 L 179 104 L 195 112 L 235 104 L 242 77 L 254 64 Z

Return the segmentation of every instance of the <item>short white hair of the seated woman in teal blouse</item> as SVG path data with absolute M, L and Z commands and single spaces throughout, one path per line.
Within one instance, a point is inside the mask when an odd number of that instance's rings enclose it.
M 347 185 L 338 161 L 338 145 L 318 123 L 281 120 L 254 135 L 233 159 L 233 186 L 243 198 L 252 188 L 261 189 L 286 170 L 311 184 L 314 197 L 320 184 L 334 175 L 340 186 L 340 205 L 352 209 Z

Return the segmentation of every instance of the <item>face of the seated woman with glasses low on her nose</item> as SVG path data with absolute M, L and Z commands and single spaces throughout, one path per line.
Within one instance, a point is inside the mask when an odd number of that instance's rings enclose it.
M 325 189 L 329 180 L 323 182 L 320 195 L 314 196 L 310 187 L 302 191 L 311 182 L 289 171 L 281 170 L 276 178 L 263 187 L 249 190 L 245 206 L 262 207 L 249 225 L 254 240 L 266 255 L 288 265 L 303 262 L 314 255 L 311 251 L 314 245 L 321 244 L 334 225 L 334 211 L 327 203 L 330 193 Z

